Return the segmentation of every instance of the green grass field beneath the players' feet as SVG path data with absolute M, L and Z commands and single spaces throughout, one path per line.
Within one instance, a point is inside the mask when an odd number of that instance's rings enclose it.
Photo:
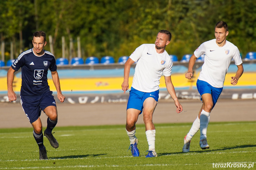
M 229 162 L 247 166 L 254 163 L 250 169 L 256 169 L 256 122 L 210 122 L 207 131 L 210 149 L 200 148 L 199 132 L 191 140 L 190 152 L 182 153 L 183 137 L 191 125 L 155 124 L 157 158 L 145 158 L 148 144 L 144 125 L 136 126 L 140 157 L 131 157 L 131 151 L 127 152 L 130 141 L 124 125 L 55 127 L 59 148 L 51 147 L 44 137 L 49 160 L 38 160 L 32 127 L 0 129 L 0 169 L 200 170 L 212 169 L 213 163 Z

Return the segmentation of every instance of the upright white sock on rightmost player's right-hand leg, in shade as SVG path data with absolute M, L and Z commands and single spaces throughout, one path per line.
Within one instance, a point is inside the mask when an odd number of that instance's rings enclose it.
M 200 140 L 203 138 L 206 138 L 206 131 L 208 124 L 210 122 L 210 112 L 206 112 L 202 110 L 201 115 L 200 115 Z

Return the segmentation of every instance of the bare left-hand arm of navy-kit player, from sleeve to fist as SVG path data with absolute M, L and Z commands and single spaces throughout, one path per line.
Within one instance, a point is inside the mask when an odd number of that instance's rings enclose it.
M 17 99 L 16 94 L 14 93 L 14 91 L 12 89 L 14 72 L 15 72 L 15 70 L 12 69 L 12 67 L 10 67 L 7 72 L 7 92 L 8 92 L 8 98 L 9 98 L 10 102 L 16 101 L 16 99 Z

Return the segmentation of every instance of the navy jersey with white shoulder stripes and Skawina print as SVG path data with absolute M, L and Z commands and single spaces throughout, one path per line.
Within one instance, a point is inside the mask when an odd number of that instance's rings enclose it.
M 52 72 L 57 70 L 53 54 L 44 50 L 42 56 L 36 56 L 33 48 L 21 53 L 11 67 L 15 71 L 21 67 L 21 96 L 36 96 L 50 91 L 47 82 L 48 69 Z

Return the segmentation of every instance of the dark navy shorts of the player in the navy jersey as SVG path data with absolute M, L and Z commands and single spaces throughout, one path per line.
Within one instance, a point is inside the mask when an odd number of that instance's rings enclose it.
M 53 92 L 49 91 L 36 97 L 20 96 L 21 106 L 30 123 L 35 122 L 41 115 L 41 111 L 44 111 L 46 107 L 56 107 L 56 103 L 52 94 Z

